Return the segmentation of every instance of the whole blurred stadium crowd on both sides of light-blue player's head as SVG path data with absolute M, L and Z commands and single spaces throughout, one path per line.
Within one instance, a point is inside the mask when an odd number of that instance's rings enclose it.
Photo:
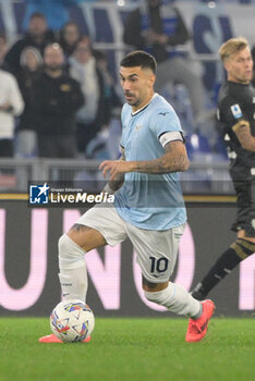
M 120 88 L 105 53 L 94 49 L 89 36 L 83 35 L 66 13 L 66 7 L 82 1 L 63 0 L 49 12 L 50 1 L 26 0 L 24 35 L 10 47 L 4 34 L 0 34 L 0 74 L 12 83 L 14 94 L 9 99 L 9 89 L 1 88 L 0 119 L 7 121 L 7 126 L 0 127 L 4 147 L 0 156 L 101 159 L 119 155 L 118 149 L 109 149 L 109 142 L 106 148 L 106 142 L 109 136 L 114 142 L 120 136 Z M 156 90 L 170 101 L 174 98 L 181 121 L 182 111 L 185 113 L 182 124 L 191 159 L 197 146 L 226 158 L 218 139 L 214 102 L 205 112 L 202 77 L 193 70 L 186 52 L 171 51 L 175 46 L 185 46 L 192 39 L 191 33 L 174 1 L 168 5 L 171 23 L 166 23 L 160 7 L 158 0 L 137 3 L 125 21 L 123 42 L 156 57 Z M 14 105 L 14 98 L 20 99 L 20 105 Z

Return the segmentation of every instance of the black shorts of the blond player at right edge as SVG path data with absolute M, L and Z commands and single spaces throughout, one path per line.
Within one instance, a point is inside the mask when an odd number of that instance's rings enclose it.
M 245 231 L 245 236 L 255 237 L 255 176 L 246 180 L 236 180 L 232 176 L 234 189 L 238 196 L 238 216 L 231 230 Z

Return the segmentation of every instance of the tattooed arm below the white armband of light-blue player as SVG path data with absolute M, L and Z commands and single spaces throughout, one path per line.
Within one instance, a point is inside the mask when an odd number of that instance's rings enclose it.
M 165 146 L 165 155 L 154 160 L 143 161 L 104 161 L 99 169 L 106 177 L 110 174 L 110 181 L 116 179 L 119 173 L 141 172 L 163 174 L 172 172 L 184 172 L 189 169 L 190 162 L 186 155 L 186 148 L 182 140 L 169 142 Z

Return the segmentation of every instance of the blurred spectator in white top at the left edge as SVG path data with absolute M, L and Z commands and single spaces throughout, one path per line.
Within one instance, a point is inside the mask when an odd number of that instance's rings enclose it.
M 13 156 L 15 116 L 24 108 L 16 79 L 0 69 L 0 157 Z

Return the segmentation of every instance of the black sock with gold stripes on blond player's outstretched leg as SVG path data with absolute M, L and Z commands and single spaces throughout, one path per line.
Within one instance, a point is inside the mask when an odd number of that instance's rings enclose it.
M 255 251 L 255 244 L 239 238 L 226 250 L 209 272 L 205 275 L 201 283 L 194 288 L 195 293 L 199 293 L 203 298 L 227 275 L 229 274 L 243 259 L 247 258 Z

